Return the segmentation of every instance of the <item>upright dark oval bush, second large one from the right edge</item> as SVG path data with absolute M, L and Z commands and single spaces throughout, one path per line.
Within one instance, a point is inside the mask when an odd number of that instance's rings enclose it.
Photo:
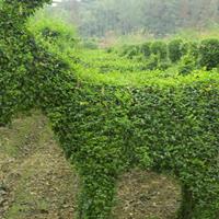
M 186 47 L 182 39 L 171 41 L 168 45 L 168 49 L 169 58 L 172 62 L 180 61 L 183 55 L 186 53 Z

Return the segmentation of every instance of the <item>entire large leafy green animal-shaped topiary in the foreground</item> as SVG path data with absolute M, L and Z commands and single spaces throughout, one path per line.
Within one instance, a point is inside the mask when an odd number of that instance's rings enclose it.
M 81 176 L 80 219 L 106 219 L 119 174 L 173 173 L 181 219 L 219 217 L 219 87 L 215 80 L 145 88 L 91 84 L 37 44 L 26 19 L 46 0 L 0 1 L 0 123 L 41 108 Z

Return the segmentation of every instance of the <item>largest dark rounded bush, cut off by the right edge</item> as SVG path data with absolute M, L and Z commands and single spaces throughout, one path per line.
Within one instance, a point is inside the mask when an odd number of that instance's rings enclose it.
M 219 39 L 205 39 L 199 46 L 199 65 L 207 70 L 219 66 Z

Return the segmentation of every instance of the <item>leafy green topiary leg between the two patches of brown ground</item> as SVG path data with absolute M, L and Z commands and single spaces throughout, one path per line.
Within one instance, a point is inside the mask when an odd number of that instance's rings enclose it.
M 78 219 L 107 219 L 115 195 L 115 178 L 100 172 L 82 176 Z

